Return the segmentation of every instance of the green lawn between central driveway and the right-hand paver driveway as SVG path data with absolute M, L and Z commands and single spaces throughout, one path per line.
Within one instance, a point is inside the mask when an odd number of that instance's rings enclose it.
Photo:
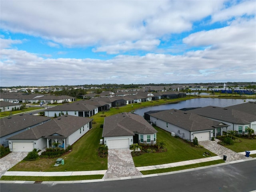
M 204 152 L 209 152 L 211 156 L 216 156 L 205 148 L 196 148 L 190 146 L 181 138 L 171 136 L 171 133 L 155 127 L 158 131 L 157 140 L 166 142 L 166 152 L 161 153 L 145 153 L 141 156 L 134 156 L 134 164 L 136 167 L 166 164 L 173 162 L 180 162 L 192 159 L 204 158 Z

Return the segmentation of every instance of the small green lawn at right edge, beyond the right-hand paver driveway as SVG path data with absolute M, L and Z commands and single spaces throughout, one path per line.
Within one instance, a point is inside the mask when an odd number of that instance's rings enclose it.
M 239 137 L 237 139 L 241 142 L 235 142 L 234 145 L 225 145 L 225 147 L 235 152 L 256 150 L 256 139 L 245 139 Z

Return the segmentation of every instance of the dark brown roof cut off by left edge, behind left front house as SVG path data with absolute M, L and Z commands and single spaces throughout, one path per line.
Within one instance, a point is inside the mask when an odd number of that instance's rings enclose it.
M 18 132 L 28 127 L 35 126 L 41 122 L 50 120 L 50 117 L 20 114 L 0 119 L 1 137 Z

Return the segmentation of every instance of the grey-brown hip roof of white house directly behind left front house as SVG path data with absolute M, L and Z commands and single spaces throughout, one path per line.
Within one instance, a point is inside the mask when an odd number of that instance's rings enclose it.
M 73 102 L 65 103 L 63 105 L 58 105 L 52 108 L 48 108 L 45 111 L 91 111 L 98 108 L 97 106 L 82 103 L 82 102 Z

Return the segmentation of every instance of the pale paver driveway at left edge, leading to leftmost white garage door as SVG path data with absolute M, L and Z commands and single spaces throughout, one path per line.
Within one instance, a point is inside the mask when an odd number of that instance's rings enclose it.
M 16 165 L 18 162 L 23 160 L 28 155 L 28 152 L 11 152 L 10 154 L 6 155 L 5 157 L 0 159 L 0 177 Z

